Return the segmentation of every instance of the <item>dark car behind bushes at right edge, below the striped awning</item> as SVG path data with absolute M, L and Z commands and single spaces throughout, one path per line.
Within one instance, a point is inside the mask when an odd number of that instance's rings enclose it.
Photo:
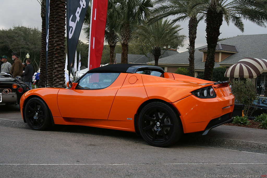
M 262 113 L 267 114 L 267 98 L 257 98 L 257 100 L 254 100 L 250 110 L 252 112 L 250 118 L 260 116 Z

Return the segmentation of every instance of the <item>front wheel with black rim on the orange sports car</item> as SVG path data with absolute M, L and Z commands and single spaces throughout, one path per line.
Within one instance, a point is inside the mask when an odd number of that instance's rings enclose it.
M 47 130 L 52 126 L 48 106 L 37 97 L 31 98 L 26 103 L 24 118 L 33 130 Z

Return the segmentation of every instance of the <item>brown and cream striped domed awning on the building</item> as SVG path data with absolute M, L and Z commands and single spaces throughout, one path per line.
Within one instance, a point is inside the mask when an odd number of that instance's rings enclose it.
M 267 60 L 258 58 L 243 58 L 225 72 L 225 77 L 257 78 L 267 72 Z

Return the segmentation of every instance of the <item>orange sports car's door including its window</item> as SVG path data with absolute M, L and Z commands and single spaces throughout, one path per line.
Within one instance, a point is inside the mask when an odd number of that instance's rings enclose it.
M 117 90 L 127 76 L 127 74 L 121 73 L 110 78 L 109 74 L 98 73 L 94 77 L 86 74 L 81 78 L 76 89 L 60 89 L 57 101 L 61 116 L 108 119 Z

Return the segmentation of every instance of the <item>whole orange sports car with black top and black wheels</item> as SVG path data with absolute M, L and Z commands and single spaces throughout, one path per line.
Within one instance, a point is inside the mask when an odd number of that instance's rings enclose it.
M 67 88 L 38 88 L 20 100 L 33 130 L 54 124 L 136 132 L 166 147 L 183 133 L 202 132 L 232 120 L 229 81 L 211 82 L 164 72 L 158 66 L 115 64 L 89 70 Z

